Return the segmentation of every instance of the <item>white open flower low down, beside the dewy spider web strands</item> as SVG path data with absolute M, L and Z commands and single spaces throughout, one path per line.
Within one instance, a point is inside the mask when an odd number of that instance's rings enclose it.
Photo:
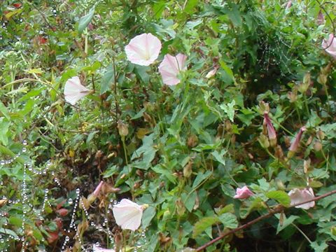
M 123 230 L 135 231 L 140 227 L 144 207 L 130 200 L 123 199 L 113 207 L 113 216 L 116 223 Z

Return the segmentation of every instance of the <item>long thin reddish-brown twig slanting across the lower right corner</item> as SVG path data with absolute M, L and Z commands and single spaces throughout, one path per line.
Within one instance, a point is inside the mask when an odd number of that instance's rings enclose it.
M 297 203 L 297 204 L 290 205 L 290 207 L 297 207 L 297 206 L 299 206 L 299 205 L 301 205 L 301 204 L 306 204 L 306 203 L 313 202 L 313 201 L 316 202 L 316 201 L 318 201 L 318 200 L 321 200 L 321 199 L 323 199 L 323 198 L 325 198 L 325 197 L 328 197 L 328 196 L 330 196 L 330 195 L 333 195 L 333 194 L 335 194 L 335 193 L 336 193 L 336 190 L 332 190 L 332 191 L 330 191 L 329 193 L 325 193 L 325 194 L 320 195 L 320 196 L 318 196 L 318 197 L 314 197 L 314 199 L 306 200 L 306 201 L 304 201 L 304 202 L 300 202 L 300 203 Z M 241 226 L 238 227 L 238 228 L 235 228 L 235 229 L 233 229 L 233 230 L 230 230 L 230 231 L 228 231 L 228 232 L 223 233 L 223 235 L 220 235 L 219 237 L 217 237 L 217 238 L 215 238 L 215 239 L 212 239 L 211 241 L 207 242 L 206 244 L 204 244 L 204 245 L 202 245 L 202 246 L 196 248 L 195 251 L 196 251 L 196 252 L 202 251 L 202 250 L 204 250 L 205 248 L 207 248 L 208 246 L 211 246 L 212 244 L 216 243 L 217 241 L 223 239 L 224 237 L 227 237 L 228 235 L 231 235 L 231 234 L 233 234 L 233 233 L 235 233 L 235 232 L 237 232 L 237 231 L 239 231 L 239 230 L 244 230 L 245 228 L 248 228 L 249 226 L 253 225 L 254 223 L 257 223 L 258 221 L 261 221 L 261 220 L 263 220 L 263 219 L 265 219 L 265 218 L 269 218 L 269 217 L 271 217 L 271 216 L 274 216 L 274 214 L 279 214 L 279 213 L 280 213 L 281 211 L 283 211 L 284 209 L 286 209 L 286 207 L 283 207 L 282 205 L 278 205 L 278 206 L 274 207 L 274 209 L 271 209 L 271 210 L 269 211 L 269 213 L 264 214 L 264 215 L 262 215 L 262 216 L 259 216 L 258 218 L 255 218 L 254 220 L 249 221 L 248 223 L 246 223 L 246 224 L 244 224 L 244 225 L 241 225 Z

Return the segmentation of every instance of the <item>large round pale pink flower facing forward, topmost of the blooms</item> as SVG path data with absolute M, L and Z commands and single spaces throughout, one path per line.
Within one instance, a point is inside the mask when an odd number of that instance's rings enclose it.
M 133 64 L 149 66 L 158 59 L 161 46 L 159 38 L 153 34 L 140 34 L 125 46 L 125 52 L 127 59 Z

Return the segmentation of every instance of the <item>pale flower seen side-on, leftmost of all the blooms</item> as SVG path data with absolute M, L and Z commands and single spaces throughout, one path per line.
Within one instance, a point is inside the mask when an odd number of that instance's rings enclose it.
M 90 90 L 80 84 L 78 76 L 66 80 L 64 86 L 64 97 L 66 102 L 69 102 L 69 104 L 75 105 L 78 100 L 85 97 L 85 95 L 90 94 L 90 92 Z

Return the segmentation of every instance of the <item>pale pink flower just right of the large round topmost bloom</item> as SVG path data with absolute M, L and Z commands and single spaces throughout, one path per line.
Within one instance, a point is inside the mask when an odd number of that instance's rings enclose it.
M 178 78 L 178 74 L 180 71 L 187 69 L 186 59 L 187 56 L 181 53 L 176 56 L 165 55 L 159 66 L 163 83 L 166 85 L 177 85 L 181 82 Z

